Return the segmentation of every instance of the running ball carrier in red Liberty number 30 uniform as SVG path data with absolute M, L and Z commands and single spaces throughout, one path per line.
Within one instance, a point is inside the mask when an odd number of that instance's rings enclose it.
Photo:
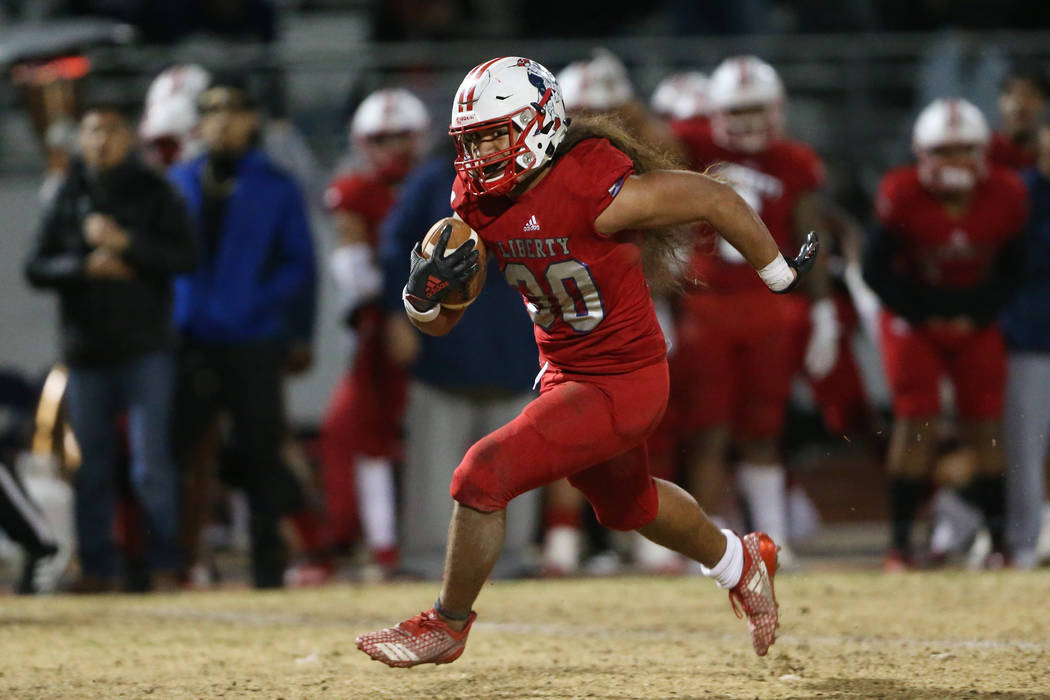
M 601 523 L 637 530 L 699 561 L 730 589 L 756 653 L 773 643 L 774 542 L 764 533 L 719 531 L 688 493 L 648 473 L 646 438 L 664 413 L 668 375 L 643 258 L 667 261 L 658 255 L 670 250 L 662 227 L 707 220 L 770 289 L 788 292 L 812 267 L 816 240 L 785 260 L 732 188 L 698 173 L 650 170 L 655 158 L 644 147 L 594 124 L 570 127 L 553 76 L 529 59 L 483 63 L 456 94 L 453 207 L 524 297 L 543 365 L 541 391 L 519 418 L 476 443 L 455 472 L 434 607 L 358 637 L 359 649 L 387 665 L 447 663 L 462 654 L 471 608 L 500 553 L 507 503 L 566 476 Z M 410 318 L 434 335 L 462 314 L 442 309 L 445 290 L 465 283 L 478 264 L 469 243 L 445 255 L 450 229 L 428 258 L 414 252 L 404 292 Z M 657 270 L 648 274 L 652 279 Z M 770 355 L 776 343 L 771 339 Z

